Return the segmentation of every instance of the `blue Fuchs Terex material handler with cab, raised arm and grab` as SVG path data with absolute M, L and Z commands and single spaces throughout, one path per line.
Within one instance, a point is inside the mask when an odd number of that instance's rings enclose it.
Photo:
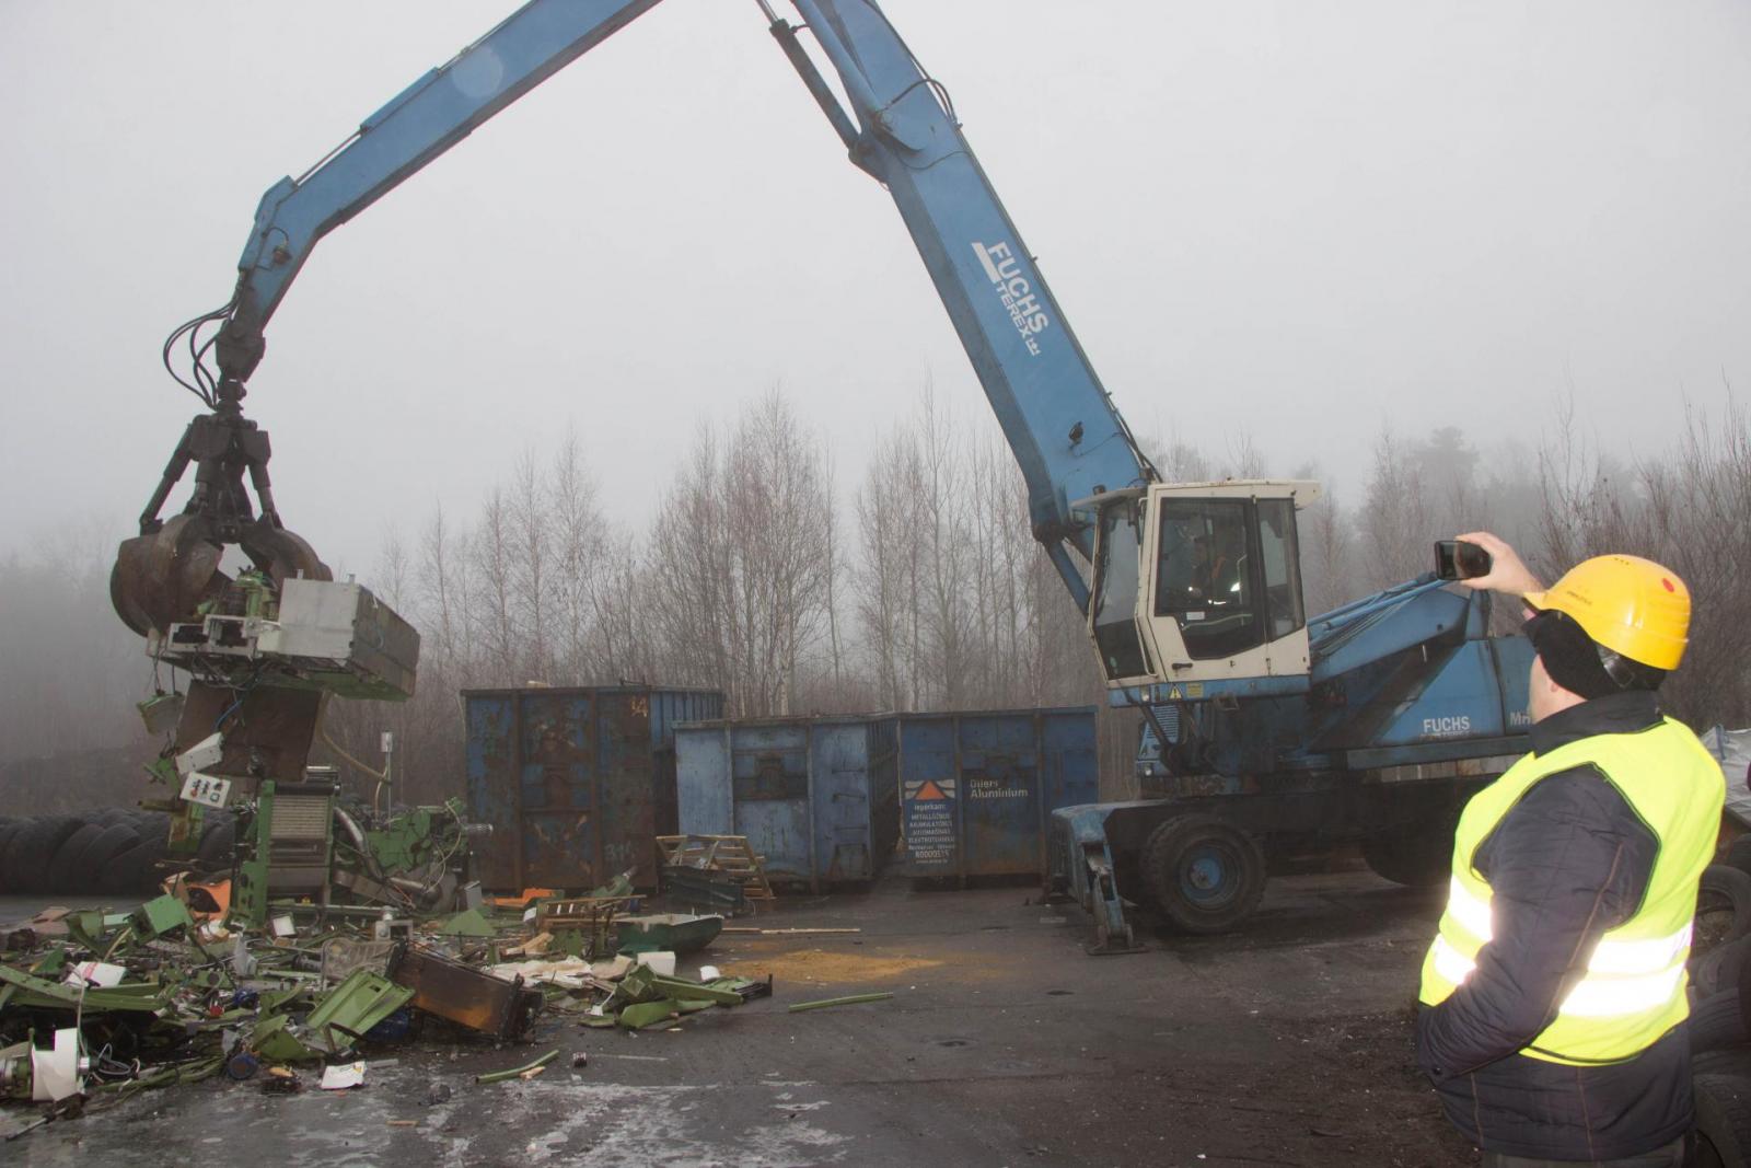
M 1525 749 L 1525 641 L 1488 636 L 1487 594 L 1439 571 L 1310 618 L 1296 513 L 1319 487 L 1163 482 L 974 158 L 949 89 L 881 7 L 793 0 L 791 25 L 755 4 L 853 165 L 893 196 L 1021 464 L 1033 536 L 1087 618 L 1110 700 L 1142 714 L 1138 777 L 1152 799 L 1066 807 L 1051 823 L 1049 883 L 1093 914 L 1093 949 L 1135 947 L 1126 902 L 1180 930 L 1233 928 L 1273 858 L 1313 841 L 1357 842 L 1396 881 L 1441 879 L 1464 799 Z M 166 368 L 207 410 L 117 555 L 112 595 L 130 627 L 173 637 L 221 604 L 235 590 L 219 571 L 228 545 L 254 564 L 257 592 L 327 580 L 282 524 L 268 436 L 242 410 L 268 320 L 327 231 L 655 5 L 531 0 L 266 191 L 231 298 L 165 343 Z M 159 518 L 191 466 L 187 506 Z

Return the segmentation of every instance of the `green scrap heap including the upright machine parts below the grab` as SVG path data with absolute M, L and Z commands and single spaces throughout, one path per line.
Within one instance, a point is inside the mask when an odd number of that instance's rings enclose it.
M 0 930 L 0 1098 L 54 1105 L 47 1122 L 98 1093 L 215 1075 L 266 1094 L 312 1082 L 343 1091 L 392 1065 L 366 1056 L 417 1038 L 422 1021 L 506 1044 L 525 1042 L 543 1010 L 634 1033 L 772 995 L 770 975 L 679 972 L 678 954 L 707 947 L 723 916 L 641 912 L 630 872 L 583 897 L 483 898 L 462 879 L 471 862 L 455 806 L 350 816 L 317 786 L 282 783 L 245 816 L 229 879 L 191 865 L 144 904 L 51 907 Z M 261 858 L 292 855 L 294 811 L 310 872 L 287 890 Z M 320 823 L 329 828 L 317 839 Z M 707 846 L 706 862 L 737 865 L 739 851 Z M 534 1079 L 559 1054 L 476 1082 Z M 569 1058 L 573 1068 L 590 1063 L 585 1051 Z M 448 1103 L 452 1086 L 431 1082 L 418 1098 Z

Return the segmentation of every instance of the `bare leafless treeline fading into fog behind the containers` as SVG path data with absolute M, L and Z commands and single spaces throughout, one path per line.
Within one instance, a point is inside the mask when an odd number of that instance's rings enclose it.
M 1476 527 L 1548 581 L 1600 552 L 1658 559 L 1697 608 L 1667 706 L 1697 727 L 1746 725 L 1751 426 L 1730 398 L 1683 422 L 1670 448 L 1634 459 L 1597 450 L 1572 412 L 1541 441 L 1383 426 L 1359 443 L 1359 466 L 1268 466 L 1245 438 L 1143 445 L 1173 482 L 1324 480 L 1301 513 L 1310 613 L 1427 571 L 1434 539 Z M 471 513 L 434 510 L 385 534 L 361 578 L 420 629 L 418 697 L 334 702 L 329 735 L 375 760 L 376 732 L 396 730 L 397 793 L 431 800 L 461 790 L 464 688 L 709 686 L 732 716 L 1105 709 L 996 424 L 953 417 L 926 389 L 861 462 L 840 473 L 770 392 L 727 426 L 700 426 L 632 529 L 604 511 L 576 434 L 529 447 Z M 4 811 L 91 802 L 63 804 L 54 781 L 32 776 L 56 774 L 42 762 L 54 755 L 140 744 L 131 706 L 152 667 L 109 608 L 114 541 L 86 545 L 0 560 Z M 1515 606 L 1497 611 L 1511 629 Z M 1103 793 L 1126 795 L 1133 728 L 1112 711 L 1103 727 Z

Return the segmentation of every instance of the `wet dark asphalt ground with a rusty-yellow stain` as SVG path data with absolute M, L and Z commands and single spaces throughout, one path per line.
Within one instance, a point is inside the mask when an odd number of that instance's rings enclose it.
M 1086 956 L 1080 909 L 1026 886 L 786 898 L 699 960 L 774 996 L 674 1031 L 545 1016 L 527 1047 L 464 1031 L 368 1052 L 366 1086 L 259 1080 L 95 1101 L 0 1143 L 18 1164 L 1361 1164 L 1476 1163 L 1411 1063 L 1438 891 L 1368 872 L 1283 877 L 1240 933 L 1145 926 Z M 7 909 L 21 911 L 7 912 Z M 0 919 L 39 904 L 0 902 Z M 891 991 L 802 1014 L 786 1005 Z M 557 1047 L 538 1079 L 476 1086 Z M 588 1063 L 573 1066 L 574 1052 Z M 448 1100 L 427 1103 L 432 1094 Z M 0 1108 L 0 1131 L 33 1112 Z

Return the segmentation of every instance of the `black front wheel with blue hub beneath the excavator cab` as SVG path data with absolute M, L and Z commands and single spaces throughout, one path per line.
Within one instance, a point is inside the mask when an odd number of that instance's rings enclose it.
M 1178 930 L 1220 933 L 1259 907 L 1264 851 L 1238 827 L 1212 814 L 1168 820 L 1143 846 L 1143 879 Z

